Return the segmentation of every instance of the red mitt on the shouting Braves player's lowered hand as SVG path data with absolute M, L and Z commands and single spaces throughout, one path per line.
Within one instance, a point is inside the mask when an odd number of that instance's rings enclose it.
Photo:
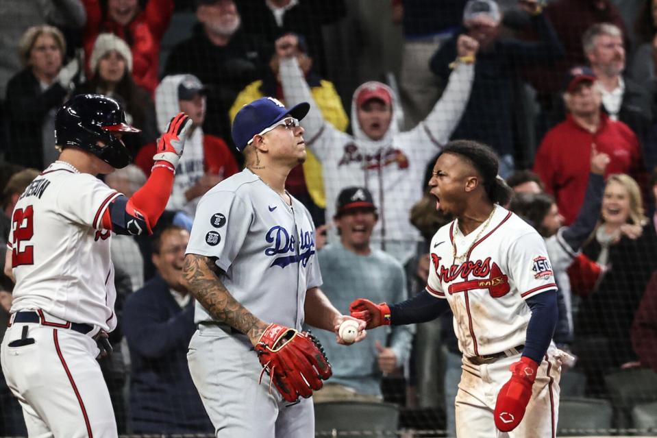
M 525 415 L 527 404 L 532 398 L 532 385 L 536 380 L 538 363 L 527 356 L 509 367 L 511 378 L 497 394 L 495 404 L 495 427 L 500 432 L 510 432 L 515 429 Z

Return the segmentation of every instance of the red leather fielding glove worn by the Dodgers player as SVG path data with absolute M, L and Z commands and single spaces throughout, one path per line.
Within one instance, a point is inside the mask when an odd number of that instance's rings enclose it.
M 256 344 L 256 352 L 262 372 L 269 374 L 270 391 L 273 383 L 290 403 L 299 396 L 312 396 L 312 391 L 323 386 L 322 380 L 333 374 L 321 344 L 307 332 L 269 324 Z

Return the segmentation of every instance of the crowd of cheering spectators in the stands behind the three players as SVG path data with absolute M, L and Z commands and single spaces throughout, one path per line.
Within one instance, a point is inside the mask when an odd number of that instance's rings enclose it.
M 264 96 L 310 102 L 308 159 L 286 188 L 311 212 L 323 291 L 340 311 L 425 287 L 428 242 L 449 221 L 425 193 L 427 172 L 445 143 L 469 138 L 497 151 L 517 193 L 506 208 L 545 238 L 560 293 L 554 341 L 575 356 L 566 378 L 586 379 L 578 395 L 607 397 L 615 370 L 657 373 L 657 0 L 381 0 L 367 13 L 397 25 L 401 44 L 385 47 L 399 52 L 396 76 L 347 62 L 373 47 L 367 26 L 346 44 L 327 32 L 353 24 L 358 3 L 0 2 L 5 239 L 16 199 L 58 157 L 53 120 L 67 98 L 113 97 L 140 128 L 125 141 L 134 164 L 106 177 L 127 196 L 171 117 L 193 121 L 155 234 L 112 244 L 119 328 L 101 368 L 120 432 L 212 431 L 186 365 L 196 327 L 182 259 L 196 203 L 243 166 L 235 114 Z M 170 26 L 177 16 L 195 21 L 188 34 Z M 11 289 L 0 278 L 0 327 Z M 389 400 L 386 379 L 403 378 L 406 406 L 444 409 L 453 432 L 451 315 L 372 332 L 348 352 L 317 336 L 334 365 L 318 402 Z M 0 435 L 25 433 L 1 376 L 0 402 Z

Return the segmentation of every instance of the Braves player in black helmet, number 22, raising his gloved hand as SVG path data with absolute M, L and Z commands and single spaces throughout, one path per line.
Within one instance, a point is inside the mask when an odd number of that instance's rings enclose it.
M 12 215 L 5 272 L 16 280 L 2 370 L 30 437 L 116 437 L 110 395 L 96 361 L 116 327 L 110 232 L 150 232 L 171 193 L 188 117 L 158 141 L 153 173 L 127 199 L 100 173 L 131 159 L 119 104 L 78 95 L 55 116 L 59 160 L 23 192 Z

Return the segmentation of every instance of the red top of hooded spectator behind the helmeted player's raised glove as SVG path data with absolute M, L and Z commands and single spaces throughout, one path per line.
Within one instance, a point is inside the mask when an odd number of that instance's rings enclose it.
M 147 176 L 151 174 L 155 153 L 155 143 L 149 143 L 139 149 L 134 159 L 134 164 L 142 169 Z M 206 173 L 219 175 L 223 169 L 224 179 L 239 171 L 235 157 L 228 149 L 226 142 L 222 138 L 210 134 L 203 135 L 203 162 Z

